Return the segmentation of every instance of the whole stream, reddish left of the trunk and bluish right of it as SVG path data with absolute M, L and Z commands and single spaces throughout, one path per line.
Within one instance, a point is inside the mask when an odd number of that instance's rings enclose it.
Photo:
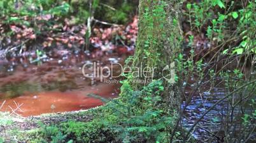
M 101 99 L 87 94 L 113 99 L 118 96 L 121 85 L 118 82 L 106 83 L 99 78 L 85 77 L 82 73 L 83 65 L 93 62 L 108 67 L 111 63 L 124 65 L 126 57 L 111 53 L 91 58 L 87 54 L 68 53 L 55 58 L 46 56 L 36 63 L 24 57 L 0 61 L 0 111 L 32 116 L 101 106 L 104 104 Z M 114 68 L 113 72 L 118 73 L 120 70 Z M 92 70 L 89 68 L 85 73 L 91 75 Z M 192 127 L 207 109 L 225 95 L 225 89 L 221 87 L 194 95 L 185 109 L 182 125 L 188 129 Z M 181 104 L 181 109 L 184 106 L 185 102 Z M 220 132 L 223 130 L 221 121 L 227 115 L 228 108 L 227 100 L 215 106 L 196 126 L 194 137 L 201 142 L 209 141 L 210 136 L 213 136 L 211 142 L 222 140 L 224 133 Z

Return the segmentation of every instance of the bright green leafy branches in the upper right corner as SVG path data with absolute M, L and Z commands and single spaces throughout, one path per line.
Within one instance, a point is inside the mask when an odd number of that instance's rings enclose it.
M 187 3 L 185 16 L 190 30 L 206 33 L 210 42 L 217 43 L 215 46 L 230 44 L 222 47 L 224 54 L 255 53 L 255 3 L 255 0 Z

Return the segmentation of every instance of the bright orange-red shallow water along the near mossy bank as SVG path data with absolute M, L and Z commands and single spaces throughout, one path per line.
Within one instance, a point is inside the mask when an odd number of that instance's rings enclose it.
M 100 87 L 97 87 L 100 88 Z M 112 92 L 115 87 L 103 86 L 101 92 L 97 89 L 87 89 L 84 91 L 72 91 L 72 92 L 40 92 L 38 94 L 24 94 L 22 96 L 15 97 L 13 99 L 7 99 L 4 103 L 1 111 L 11 111 L 16 109 L 17 104 L 22 104 L 20 109 L 17 109 L 15 113 L 22 116 L 41 115 L 43 113 L 64 112 L 64 111 L 77 111 L 80 109 L 89 109 L 103 104 L 100 99 L 94 97 L 88 97 L 87 94 L 95 93 L 103 97 L 115 97 L 112 96 Z M 104 95 L 103 95 L 104 94 Z M 3 100 L 2 100 L 3 101 Z M 15 101 L 15 103 L 14 103 Z M 11 107 L 11 108 L 10 108 Z

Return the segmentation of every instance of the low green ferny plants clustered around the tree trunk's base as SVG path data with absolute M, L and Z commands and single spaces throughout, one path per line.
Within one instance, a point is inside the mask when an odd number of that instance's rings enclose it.
M 122 97 L 99 109 L 94 120 L 68 121 L 60 130 L 76 142 L 168 142 L 176 116 L 164 107 L 161 83 L 133 91 L 124 81 Z

